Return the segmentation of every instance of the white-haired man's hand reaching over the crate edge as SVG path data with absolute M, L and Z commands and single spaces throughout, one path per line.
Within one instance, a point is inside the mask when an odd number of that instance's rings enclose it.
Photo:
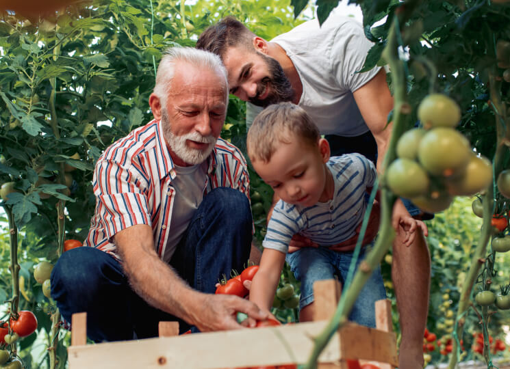
M 248 318 L 265 320 L 268 312 L 260 310 L 255 303 L 233 295 L 201 294 L 200 301 L 193 304 L 190 324 L 200 331 L 224 331 L 227 329 L 241 329 L 236 315 L 243 312 Z

